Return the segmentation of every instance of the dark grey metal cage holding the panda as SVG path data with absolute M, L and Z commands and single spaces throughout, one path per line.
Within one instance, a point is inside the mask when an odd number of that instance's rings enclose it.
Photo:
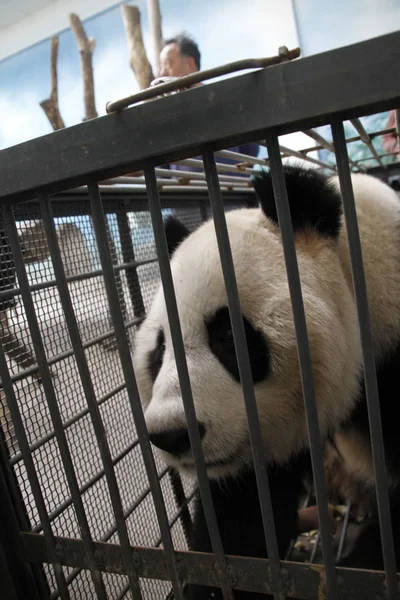
M 183 598 L 186 582 L 275 598 L 398 597 L 372 336 L 350 171 L 399 174 L 360 117 L 395 109 L 400 33 L 160 98 L 0 152 L 0 572 L 7 600 Z M 179 118 L 178 118 L 179 116 Z M 351 120 L 372 167 L 348 159 Z M 330 125 L 332 141 L 314 128 Z M 293 151 L 278 136 L 303 131 Z M 261 141 L 260 141 L 261 140 Z M 256 141 L 268 161 L 233 153 Z M 329 163 L 316 149 L 332 153 Z M 306 322 L 282 156 L 338 173 L 363 346 L 385 573 L 335 566 Z M 195 158 L 193 158 L 195 157 Z M 197 158 L 196 158 L 197 157 Z M 201 158 L 199 158 L 201 157 Z M 222 162 L 229 159 L 230 163 Z M 181 162 L 186 172 L 165 165 Z M 323 564 L 280 561 L 225 210 L 255 206 L 269 163 L 282 233 Z M 269 559 L 225 556 L 196 427 L 163 214 L 212 216 L 229 300 Z M 193 482 L 153 456 L 131 362 L 161 279 L 214 554 L 188 552 Z M 345 520 L 346 521 L 346 520 Z M 343 527 L 343 535 L 346 527 Z M 314 553 L 315 554 L 315 553 Z M 314 557 L 315 558 L 315 557 Z M 4 595 L 5 594 L 5 595 Z

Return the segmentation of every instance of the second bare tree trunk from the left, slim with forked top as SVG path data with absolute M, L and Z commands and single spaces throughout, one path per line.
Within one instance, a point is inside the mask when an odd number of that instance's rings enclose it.
M 96 45 L 94 38 L 88 38 L 78 15 L 71 13 L 69 15 L 71 29 L 76 38 L 78 49 L 81 55 L 81 67 L 83 76 L 83 96 L 85 102 L 84 121 L 95 119 L 97 115 L 96 103 L 94 99 L 94 80 L 92 55 Z

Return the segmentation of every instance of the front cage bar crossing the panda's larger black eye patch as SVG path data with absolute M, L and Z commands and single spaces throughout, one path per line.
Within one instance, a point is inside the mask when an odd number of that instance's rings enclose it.
M 271 587 L 274 591 L 274 597 L 281 598 L 284 597 L 284 595 L 282 592 L 282 582 L 280 577 L 279 550 L 276 539 L 268 474 L 265 465 L 260 421 L 254 393 L 253 376 L 251 373 L 246 334 L 244 330 L 242 311 L 240 308 L 239 292 L 236 283 L 228 228 L 226 225 L 224 205 L 218 181 L 215 158 L 212 151 L 207 151 L 204 153 L 203 162 L 207 178 L 208 193 L 212 216 L 214 219 L 215 234 L 217 236 L 226 293 L 228 296 L 228 307 L 232 323 L 233 339 L 235 343 L 240 381 L 249 424 L 250 442 L 254 459 L 258 495 L 260 499 L 264 536 L 268 551 L 268 560 L 271 566 Z

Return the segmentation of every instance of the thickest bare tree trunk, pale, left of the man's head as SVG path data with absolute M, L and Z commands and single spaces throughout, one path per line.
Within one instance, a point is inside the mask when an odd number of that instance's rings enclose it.
M 141 90 L 149 87 L 154 79 L 153 71 L 147 58 L 140 25 L 140 11 L 137 6 L 122 4 L 122 18 L 128 39 L 129 59 L 133 72 Z

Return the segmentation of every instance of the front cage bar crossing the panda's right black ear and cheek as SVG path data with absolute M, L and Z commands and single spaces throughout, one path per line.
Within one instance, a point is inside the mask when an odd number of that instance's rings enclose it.
M 322 552 L 325 564 L 326 591 L 328 600 L 336 598 L 337 582 L 335 557 L 331 544 L 331 521 L 328 510 L 325 473 L 323 464 L 323 443 L 319 430 L 318 410 L 315 399 L 314 378 L 311 365 L 310 347 L 308 343 L 307 324 L 301 293 L 300 275 L 293 237 L 292 221 L 287 198 L 282 158 L 276 135 L 267 136 L 268 158 L 271 168 L 272 186 L 274 190 L 279 229 L 282 236 L 286 273 L 292 303 L 293 320 L 296 333 L 297 354 L 300 365 L 300 376 L 303 388 L 304 406 L 307 417 L 308 437 L 310 442 L 311 462 L 315 481 L 315 495 L 318 505 Z

